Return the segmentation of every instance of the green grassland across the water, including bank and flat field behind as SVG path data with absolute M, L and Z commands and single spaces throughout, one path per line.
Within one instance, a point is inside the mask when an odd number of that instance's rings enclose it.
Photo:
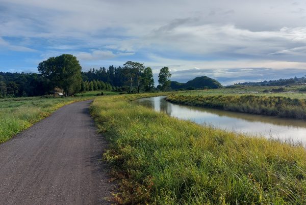
M 167 97 L 167 101 L 252 114 L 306 119 L 304 93 L 240 93 L 238 89 L 182 92 Z M 251 93 L 251 94 L 250 94 Z

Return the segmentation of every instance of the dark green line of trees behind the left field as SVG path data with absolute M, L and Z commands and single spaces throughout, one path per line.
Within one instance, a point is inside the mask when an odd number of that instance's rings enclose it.
M 62 89 L 65 96 L 83 91 L 126 90 L 129 93 L 150 92 L 155 89 L 152 69 L 142 63 L 128 61 L 123 66 L 90 69 L 82 72 L 77 57 L 62 54 L 39 63 L 36 73 L 0 72 L 0 97 L 30 97 L 53 94 Z M 159 74 L 159 90 L 170 86 L 167 67 Z

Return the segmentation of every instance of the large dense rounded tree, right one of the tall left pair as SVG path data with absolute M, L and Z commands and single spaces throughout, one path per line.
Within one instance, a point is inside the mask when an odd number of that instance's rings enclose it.
M 62 54 L 56 57 L 56 62 L 61 71 L 60 86 L 64 90 L 65 96 L 79 92 L 82 82 L 82 67 L 77 57 L 71 54 Z

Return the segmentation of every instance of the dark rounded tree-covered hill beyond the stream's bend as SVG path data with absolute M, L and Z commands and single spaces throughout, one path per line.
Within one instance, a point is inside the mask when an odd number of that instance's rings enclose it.
M 189 80 L 186 83 L 171 81 L 171 89 L 217 89 L 222 87 L 221 83 L 213 78 L 209 78 L 207 76 L 196 77 L 193 80 Z

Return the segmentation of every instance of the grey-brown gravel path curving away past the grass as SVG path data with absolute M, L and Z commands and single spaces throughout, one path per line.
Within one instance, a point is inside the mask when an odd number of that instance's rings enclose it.
M 114 184 L 100 161 L 90 101 L 66 105 L 0 144 L 0 204 L 108 204 Z

